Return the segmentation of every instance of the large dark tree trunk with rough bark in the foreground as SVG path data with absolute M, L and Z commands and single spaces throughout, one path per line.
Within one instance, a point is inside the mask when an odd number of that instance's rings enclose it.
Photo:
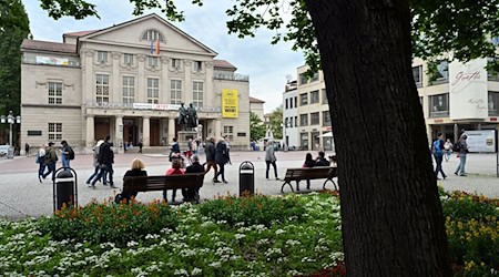
M 306 0 L 338 156 L 349 276 L 450 276 L 407 0 Z

